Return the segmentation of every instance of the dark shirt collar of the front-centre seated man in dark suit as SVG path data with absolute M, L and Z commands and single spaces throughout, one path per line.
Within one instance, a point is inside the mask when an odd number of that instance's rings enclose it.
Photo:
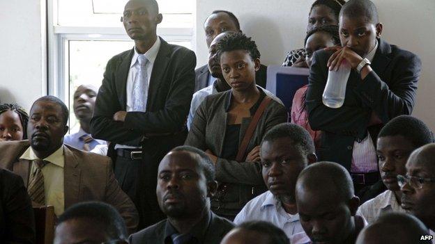
M 213 221 L 213 214 L 211 213 L 211 211 L 207 211 L 204 217 L 201 218 L 201 220 L 199 220 L 197 225 L 194 225 L 194 227 L 190 229 L 189 233 L 192 234 L 194 238 L 197 238 L 198 243 L 204 243 L 204 238 L 206 236 L 208 227 L 210 227 L 212 221 Z M 171 225 L 171 222 L 169 222 L 168 219 L 166 221 L 166 227 L 165 227 L 165 243 L 171 240 L 171 236 L 173 234 L 178 234 L 178 231 L 175 229 L 173 225 Z

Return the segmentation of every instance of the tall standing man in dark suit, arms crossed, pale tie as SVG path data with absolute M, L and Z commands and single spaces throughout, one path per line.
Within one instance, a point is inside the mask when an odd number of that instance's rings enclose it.
M 162 15 L 155 0 L 128 1 L 122 20 L 135 47 L 107 63 L 91 133 L 111 142 L 115 177 L 137 206 L 139 227 L 145 227 L 165 218 L 155 177 L 158 162 L 187 136 L 196 57 L 157 36 Z

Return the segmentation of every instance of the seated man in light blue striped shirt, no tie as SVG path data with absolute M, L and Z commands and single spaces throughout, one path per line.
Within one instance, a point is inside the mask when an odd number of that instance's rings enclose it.
M 234 223 L 264 220 L 289 237 L 302 232 L 294 191 L 299 173 L 316 161 L 310 133 L 296 124 L 278 124 L 264 136 L 260 158 L 268 191 L 248 202 Z

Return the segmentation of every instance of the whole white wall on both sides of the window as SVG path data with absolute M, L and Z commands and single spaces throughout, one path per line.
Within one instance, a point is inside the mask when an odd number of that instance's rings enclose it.
M 197 0 L 198 64 L 206 63 L 203 22 L 215 9 L 234 12 L 242 29 L 256 40 L 261 60 L 279 65 L 286 51 L 302 47 L 309 0 Z M 435 1 L 374 0 L 384 24 L 383 38 L 422 59 L 422 76 L 413 115 L 435 130 Z M 45 95 L 45 0 L 0 1 L 0 102 L 30 108 Z

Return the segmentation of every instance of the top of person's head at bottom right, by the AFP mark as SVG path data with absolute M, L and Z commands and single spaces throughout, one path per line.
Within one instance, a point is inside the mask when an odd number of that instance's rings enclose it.
M 427 235 L 429 229 L 413 215 L 386 213 L 361 231 L 356 244 L 425 243 L 420 238 Z

